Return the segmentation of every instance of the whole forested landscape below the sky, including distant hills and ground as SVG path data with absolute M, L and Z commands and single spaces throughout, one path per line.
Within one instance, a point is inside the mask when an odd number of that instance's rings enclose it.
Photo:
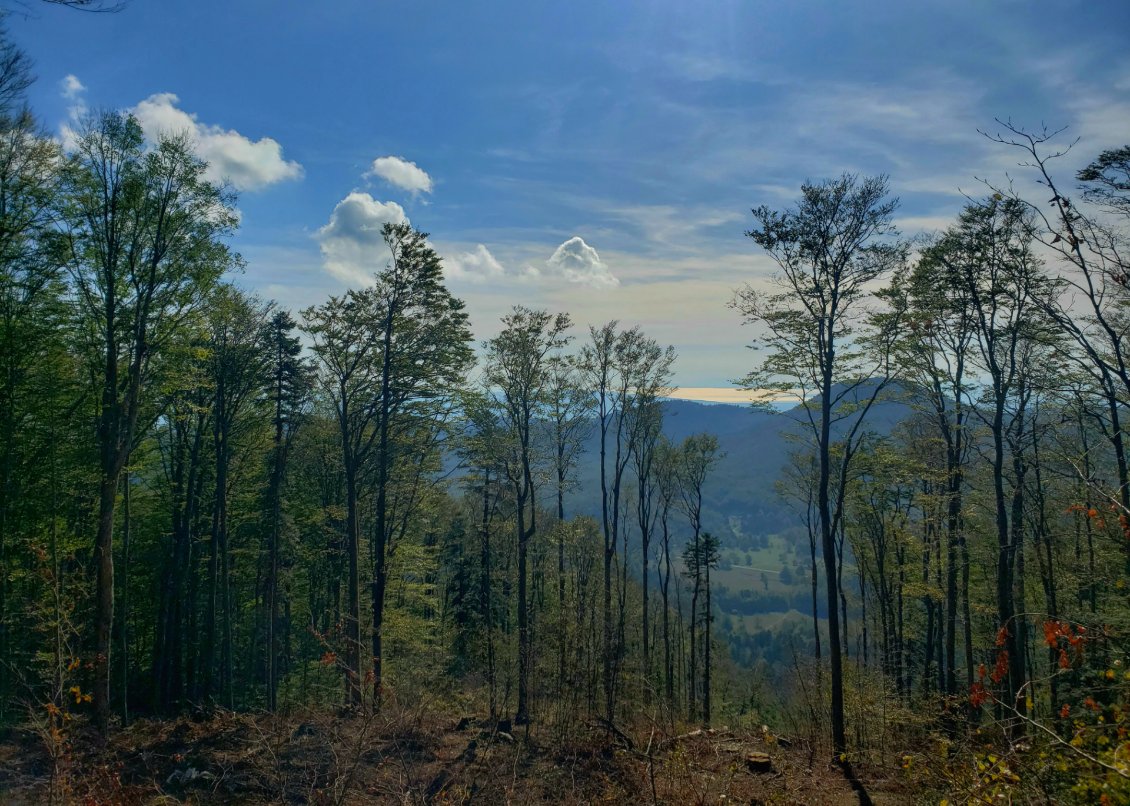
M 640 327 L 476 341 L 407 223 L 285 310 L 188 137 L 32 79 L 6 35 L 0 801 L 1130 803 L 1130 146 L 998 121 L 940 232 L 755 207 L 759 442 L 672 435 Z

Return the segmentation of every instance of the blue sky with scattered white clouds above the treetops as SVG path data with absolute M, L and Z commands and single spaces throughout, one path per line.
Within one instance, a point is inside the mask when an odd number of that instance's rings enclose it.
M 940 228 L 1016 155 L 994 116 L 1069 125 L 1063 175 L 1130 142 L 1130 2 L 568 3 L 132 0 L 32 6 L 32 103 L 191 128 L 241 189 L 241 284 L 301 309 L 432 233 L 476 335 L 516 303 L 618 318 L 724 387 L 753 358 L 727 307 L 771 266 L 749 209 L 806 179 L 887 173 Z M 1023 173 L 1023 172 L 1022 172 Z M 711 397 L 704 392 L 701 397 Z M 716 397 L 716 396 L 714 396 Z

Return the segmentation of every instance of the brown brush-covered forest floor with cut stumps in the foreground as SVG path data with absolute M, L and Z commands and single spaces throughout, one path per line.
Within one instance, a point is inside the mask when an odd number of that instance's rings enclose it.
M 824 753 L 768 735 L 628 736 L 594 722 L 550 739 L 497 728 L 405 712 L 219 711 L 139 720 L 107 744 L 81 726 L 10 730 L 0 804 L 859 803 Z M 858 772 L 877 804 L 910 799 L 899 781 Z

